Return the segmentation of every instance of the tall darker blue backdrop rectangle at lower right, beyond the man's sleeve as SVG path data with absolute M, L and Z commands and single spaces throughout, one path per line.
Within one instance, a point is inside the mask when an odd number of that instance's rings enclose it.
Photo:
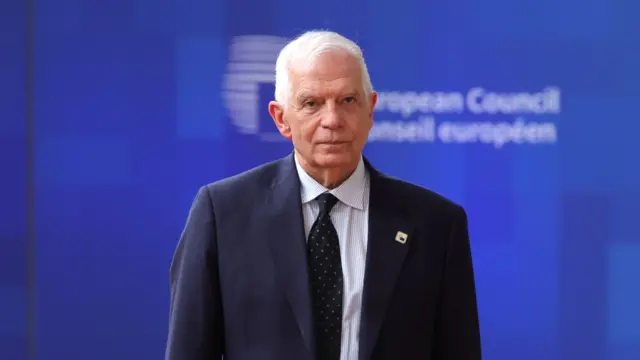
M 561 359 L 599 360 L 606 353 L 607 241 L 612 202 L 606 196 L 565 192 L 558 248 L 558 341 Z

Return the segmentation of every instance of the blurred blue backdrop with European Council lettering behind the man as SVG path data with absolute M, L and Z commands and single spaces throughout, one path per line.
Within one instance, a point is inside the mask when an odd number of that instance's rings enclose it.
M 484 358 L 640 359 L 640 3 L 0 2 L 0 359 L 157 360 L 197 189 L 287 155 L 282 45 L 363 48 L 365 153 L 469 214 Z

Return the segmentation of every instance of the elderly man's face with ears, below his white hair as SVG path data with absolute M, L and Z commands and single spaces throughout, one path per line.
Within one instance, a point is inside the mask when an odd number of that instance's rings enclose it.
M 377 98 L 375 93 L 368 98 L 364 94 L 357 59 L 327 52 L 311 66 L 294 64 L 289 80 L 287 108 L 269 107 L 280 133 L 312 167 L 357 164 L 373 126 Z

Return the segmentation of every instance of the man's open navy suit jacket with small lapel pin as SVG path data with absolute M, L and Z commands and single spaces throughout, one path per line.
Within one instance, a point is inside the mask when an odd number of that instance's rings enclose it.
M 358 360 L 479 360 L 465 211 L 371 176 Z M 408 234 L 396 241 L 398 231 Z M 293 155 L 203 186 L 170 270 L 166 360 L 316 359 Z

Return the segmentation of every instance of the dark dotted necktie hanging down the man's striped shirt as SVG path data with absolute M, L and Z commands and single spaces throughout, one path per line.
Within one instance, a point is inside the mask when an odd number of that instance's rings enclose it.
M 317 360 L 338 360 L 342 333 L 342 264 L 338 233 L 329 217 L 338 199 L 324 193 L 317 200 L 320 214 L 311 227 L 307 245 Z

